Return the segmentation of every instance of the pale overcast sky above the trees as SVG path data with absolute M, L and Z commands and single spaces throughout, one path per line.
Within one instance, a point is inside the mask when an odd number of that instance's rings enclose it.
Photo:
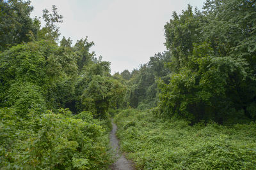
M 201 9 L 204 0 L 31 0 L 31 17 L 56 5 L 63 15 L 61 38 L 73 43 L 86 38 L 93 41 L 97 56 L 111 62 L 111 73 L 130 71 L 148 62 L 150 56 L 166 50 L 164 24 L 172 11 L 185 10 L 187 4 Z

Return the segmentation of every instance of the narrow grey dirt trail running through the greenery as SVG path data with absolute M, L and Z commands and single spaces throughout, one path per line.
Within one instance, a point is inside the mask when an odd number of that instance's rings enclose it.
M 119 141 L 116 137 L 116 124 L 113 123 L 112 121 L 112 131 L 110 134 L 110 142 L 111 146 L 115 152 L 115 156 L 118 158 L 116 162 L 111 165 L 112 170 L 134 170 L 134 167 L 132 166 L 132 162 L 127 160 L 124 156 L 123 153 L 120 153 L 120 146 L 119 146 Z

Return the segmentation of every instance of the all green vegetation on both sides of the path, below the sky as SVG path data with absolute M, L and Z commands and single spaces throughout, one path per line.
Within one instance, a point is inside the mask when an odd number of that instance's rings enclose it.
M 173 12 L 166 51 L 113 76 L 56 6 L 0 7 L 0 169 L 108 169 L 109 115 L 139 169 L 256 168 L 255 1 Z

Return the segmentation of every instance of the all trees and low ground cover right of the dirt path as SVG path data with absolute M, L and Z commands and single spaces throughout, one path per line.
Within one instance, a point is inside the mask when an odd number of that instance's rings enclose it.
M 166 52 L 113 78 L 127 86 L 115 117 L 138 169 L 255 169 L 256 3 L 207 0 L 173 12 Z

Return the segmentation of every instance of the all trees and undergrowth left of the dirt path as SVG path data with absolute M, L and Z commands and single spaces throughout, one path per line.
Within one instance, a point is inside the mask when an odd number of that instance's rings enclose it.
M 0 1 L 0 169 L 108 169 L 109 108 L 125 87 L 87 38 L 60 38 L 56 6 L 42 27 L 29 1 Z

